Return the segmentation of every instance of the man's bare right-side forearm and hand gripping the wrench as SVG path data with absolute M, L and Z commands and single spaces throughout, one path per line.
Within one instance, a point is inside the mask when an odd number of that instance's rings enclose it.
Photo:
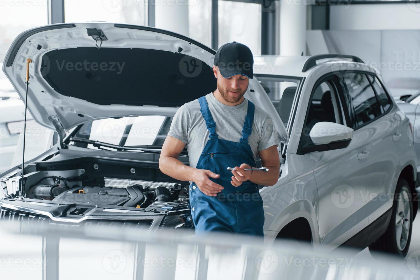
M 231 184 L 238 187 L 243 181 L 252 181 L 255 184 L 263 186 L 273 186 L 277 183 L 278 177 L 280 176 L 280 157 L 278 156 L 277 145 L 273 145 L 265 150 L 258 152 L 261 165 L 268 168 L 268 171 L 251 171 L 243 170 L 251 168 L 248 164 L 242 163 L 241 166 L 235 166 L 232 170 L 232 181 Z

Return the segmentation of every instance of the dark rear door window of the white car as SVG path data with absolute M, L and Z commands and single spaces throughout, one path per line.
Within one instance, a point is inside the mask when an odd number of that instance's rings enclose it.
M 344 77 L 344 86 L 353 105 L 353 128 L 360 127 L 382 114 L 381 104 L 364 73 L 351 73 Z

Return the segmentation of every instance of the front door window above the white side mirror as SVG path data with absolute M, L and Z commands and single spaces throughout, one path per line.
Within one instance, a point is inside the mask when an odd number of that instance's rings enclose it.
M 308 130 L 317 122 L 344 124 L 342 106 L 333 78 L 320 83 L 314 90 L 307 110 L 305 126 Z

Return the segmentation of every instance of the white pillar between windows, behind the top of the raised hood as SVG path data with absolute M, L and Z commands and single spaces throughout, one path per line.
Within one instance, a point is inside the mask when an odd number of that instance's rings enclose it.
M 188 0 L 154 0 L 155 26 L 188 36 Z

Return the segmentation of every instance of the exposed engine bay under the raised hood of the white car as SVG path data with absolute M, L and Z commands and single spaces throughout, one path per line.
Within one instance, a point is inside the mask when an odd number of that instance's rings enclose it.
M 126 165 L 118 160 L 89 156 L 61 159 L 58 154 L 47 161 L 25 166 L 26 199 L 159 210 L 188 205 L 189 182 L 168 177 L 154 166 Z M 6 200 L 16 197 L 20 184 L 20 172 L 0 178 Z

